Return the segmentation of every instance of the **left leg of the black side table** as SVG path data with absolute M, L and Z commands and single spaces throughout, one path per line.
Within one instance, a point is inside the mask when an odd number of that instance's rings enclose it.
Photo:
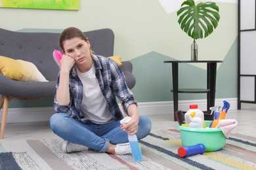
M 175 112 L 178 110 L 179 94 L 178 94 L 178 83 L 179 83 L 179 68 L 178 63 L 172 63 L 173 69 L 173 114 L 174 121 L 177 121 Z

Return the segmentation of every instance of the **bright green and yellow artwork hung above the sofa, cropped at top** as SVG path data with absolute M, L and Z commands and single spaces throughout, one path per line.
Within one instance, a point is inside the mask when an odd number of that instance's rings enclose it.
M 79 0 L 0 0 L 2 8 L 79 10 Z

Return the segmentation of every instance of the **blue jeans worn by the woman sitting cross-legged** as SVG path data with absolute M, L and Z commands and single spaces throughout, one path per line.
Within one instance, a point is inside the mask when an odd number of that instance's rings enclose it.
M 106 152 L 110 143 L 128 142 L 127 132 L 120 129 L 119 121 L 108 124 L 85 124 L 66 113 L 55 113 L 51 116 L 50 125 L 53 132 L 62 139 L 99 152 Z M 138 139 L 146 137 L 151 131 L 151 121 L 146 116 L 139 116 L 138 126 Z

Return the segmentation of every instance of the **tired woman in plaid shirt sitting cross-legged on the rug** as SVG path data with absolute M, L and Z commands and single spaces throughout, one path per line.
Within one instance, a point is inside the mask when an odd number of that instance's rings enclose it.
M 142 139 L 150 133 L 151 122 L 139 116 L 123 72 L 111 59 L 93 54 L 89 40 L 75 27 L 64 29 L 59 43 L 64 54 L 54 97 L 56 113 L 50 124 L 64 139 L 62 151 L 131 154 L 127 134 Z M 119 123 L 124 116 L 116 96 L 132 118 L 125 125 Z

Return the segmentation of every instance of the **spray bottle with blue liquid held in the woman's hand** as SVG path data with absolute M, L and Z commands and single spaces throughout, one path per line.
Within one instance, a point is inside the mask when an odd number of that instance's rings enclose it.
M 128 122 L 130 122 L 130 120 L 131 120 L 131 117 L 126 116 L 125 118 L 123 118 L 120 121 L 120 124 L 125 125 Z M 137 135 L 128 135 L 128 140 L 129 140 L 129 143 L 131 146 L 131 152 L 133 153 L 133 160 L 134 161 L 142 161 L 143 158 L 142 158 L 142 153 L 140 150 L 140 144 L 137 139 Z

